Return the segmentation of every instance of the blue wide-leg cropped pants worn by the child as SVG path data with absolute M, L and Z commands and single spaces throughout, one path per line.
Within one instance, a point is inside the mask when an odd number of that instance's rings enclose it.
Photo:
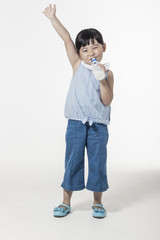
M 107 142 L 108 126 L 79 120 L 68 120 L 65 134 L 65 172 L 61 187 L 68 191 L 84 188 L 94 191 L 106 191 L 107 181 Z M 88 156 L 88 179 L 84 181 L 85 147 Z

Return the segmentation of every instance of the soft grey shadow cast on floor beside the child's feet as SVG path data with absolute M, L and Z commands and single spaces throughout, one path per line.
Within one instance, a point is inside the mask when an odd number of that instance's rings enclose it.
M 117 172 L 108 176 L 109 189 L 102 202 L 108 212 L 121 211 L 147 198 L 160 197 L 160 171 Z M 93 197 L 93 194 L 90 194 Z M 88 211 L 92 200 L 74 204 L 74 210 Z

